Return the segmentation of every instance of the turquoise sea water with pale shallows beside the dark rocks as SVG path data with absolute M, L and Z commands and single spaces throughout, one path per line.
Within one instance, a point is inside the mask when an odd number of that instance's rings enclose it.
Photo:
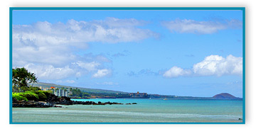
M 242 100 L 73 99 L 124 105 L 13 108 L 14 123 L 242 123 Z M 125 103 L 137 103 L 125 105 Z

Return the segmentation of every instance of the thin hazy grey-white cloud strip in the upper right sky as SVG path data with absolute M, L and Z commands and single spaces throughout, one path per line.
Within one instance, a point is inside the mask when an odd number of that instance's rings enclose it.
M 163 21 L 162 25 L 168 28 L 171 32 L 177 33 L 196 33 L 196 34 L 211 34 L 218 30 L 228 28 L 242 28 L 242 21 L 195 21 L 188 19 L 176 19 L 175 21 Z

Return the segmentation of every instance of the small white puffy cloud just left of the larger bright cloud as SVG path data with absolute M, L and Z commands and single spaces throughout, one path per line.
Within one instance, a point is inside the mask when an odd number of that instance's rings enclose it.
M 188 76 L 191 74 L 190 70 L 185 70 L 180 67 L 171 67 L 168 71 L 164 72 L 164 77 L 178 77 L 178 76 Z

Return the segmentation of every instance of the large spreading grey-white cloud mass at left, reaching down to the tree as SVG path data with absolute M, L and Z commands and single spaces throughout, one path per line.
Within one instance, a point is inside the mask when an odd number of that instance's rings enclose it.
M 106 18 L 101 21 L 13 25 L 13 67 L 28 67 L 40 79 L 63 79 L 93 74 L 99 78 L 112 72 L 105 70 L 111 62 L 104 55 L 78 55 L 87 50 L 88 42 L 136 42 L 158 34 L 140 28 L 146 21 L 134 18 Z M 30 64 L 28 64 L 30 63 Z M 63 73 L 62 73 L 63 72 Z M 66 73 L 66 74 L 65 74 Z

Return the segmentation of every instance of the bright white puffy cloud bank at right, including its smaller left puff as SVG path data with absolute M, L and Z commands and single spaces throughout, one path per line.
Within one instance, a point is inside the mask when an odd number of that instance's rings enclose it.
M 210 55 L 193 65 L 192 69 L 182 69 L 180 67 L 171 67 L 164 72 L 166 78 L 178 76 L 223 76 L 242 74 L 242 57 L 221 57 L 219 55 Z

